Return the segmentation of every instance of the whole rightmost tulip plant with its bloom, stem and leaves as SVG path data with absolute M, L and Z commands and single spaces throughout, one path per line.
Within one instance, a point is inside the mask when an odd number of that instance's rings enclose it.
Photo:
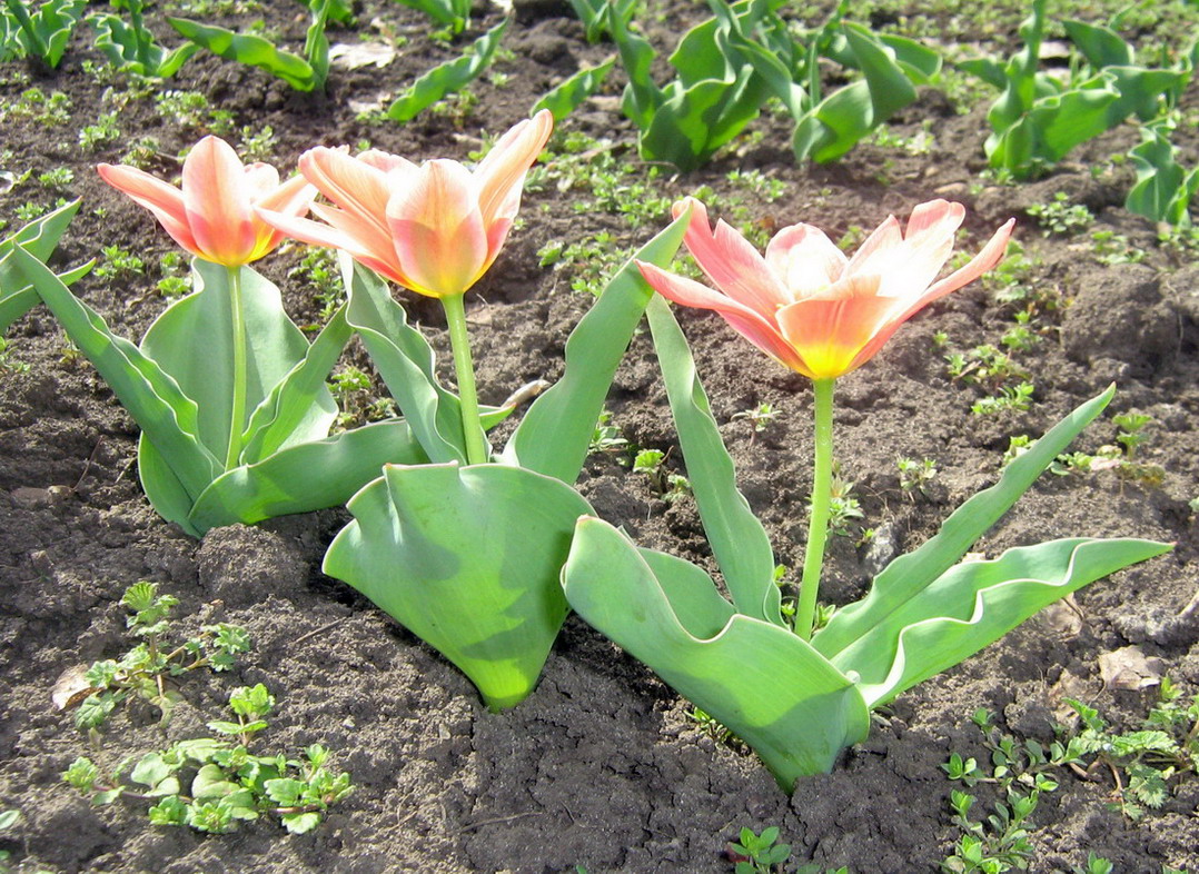
M 765 257 L 725 224 L 713 233 L 695 200 L 676 206 L 686 242 L 719 289 L 639 264 L 664 297 L 713 309 L 815 388 L 815 477 L 811 534 L 794 627 L 781 609 L 775 559 L 736 488 L 733 462 L 669 307 L 647 307 L 687 475 L 731 603 L 686 561 L 637 548 L 595 518 L 580 519 L 562 572 L 571 607 L 727 725 L 763 758 L 779 785 L 829 771 L 864 740 L 869 711 L 977 652 L 1042 607 L 1168 544 L 1070 538 L 1010 549 L 990 561 L 963 556 L 1108 404 L 1114 387 L 1083 404 L 962 505 L 941 531 L 896 559 L 861 601 L 813 633 L 832 459 L 832 386 L 864 364 L 906 319 L 993 266 L 1005 224 L 969 264 L 936 278 L 962 223 L 960 205 L 917 206 L 900 230 L 888 218 L 845 258 L 818 229 L 781 230 Z

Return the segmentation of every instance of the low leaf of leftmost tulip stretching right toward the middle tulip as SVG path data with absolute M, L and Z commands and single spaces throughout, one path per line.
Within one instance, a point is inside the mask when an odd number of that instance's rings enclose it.
M 222 474 L 188 508 L 195 536 L 221 525 L 252 525 L 287 513 L 345 504 L 384 464 L 424 464 L 428 457 L 402 418 L 372 422 L 324 440 L 279 450 Z

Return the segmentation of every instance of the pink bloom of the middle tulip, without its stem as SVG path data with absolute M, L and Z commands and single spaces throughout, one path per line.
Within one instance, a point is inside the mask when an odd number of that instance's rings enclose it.
M 357 157 L 311 149 L 300 171 L 332 201 L 312 211 L 327 224 L 270 209 L 264 221 L 303 242 L 344 249 L 361 264 L 429 297 L 462 295 L 495 261 L 520 207 L 525 173 L 546 146 L 554 116 L 541 111 L 508 131 L 468 170 L 378 150 Z

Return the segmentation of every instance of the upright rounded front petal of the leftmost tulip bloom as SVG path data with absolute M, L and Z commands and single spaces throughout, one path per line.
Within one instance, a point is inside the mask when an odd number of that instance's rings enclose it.
M 246 188 L 246 168 L 233 146 L 205 137 L 183 161 L 183 207 L 197 245 L 210 261 L 246 264 L 257 235 Z

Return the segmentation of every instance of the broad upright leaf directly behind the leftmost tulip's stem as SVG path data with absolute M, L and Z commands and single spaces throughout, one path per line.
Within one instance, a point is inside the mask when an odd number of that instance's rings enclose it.
M 195 258 L 194 291 L 170 305 L 141 339 L 141 352 L 157 362 L 198 408 L 198 436 L 217 458 L 225 458 L 233 427 L 234 330 L 228 267 Z M 308 354 L 308 340 L 283 309 L 279 290 L 251 267 L 239 267 L 246 340 L 246 405 L 237 433 L 252 411 Z M 195 342 L 203 338 L 203 342 Z M 321 398 L 326 422 L 329 397 Z M 157 441 L 155 441 L 157 442 Z M 162 446 L 157 448 L 162 450 Z

